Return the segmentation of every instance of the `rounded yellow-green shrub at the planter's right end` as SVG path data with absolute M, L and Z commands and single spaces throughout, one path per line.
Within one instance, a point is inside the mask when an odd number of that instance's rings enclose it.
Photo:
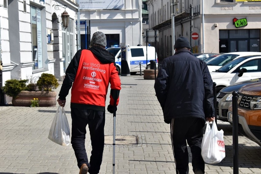
M 37 86 L 39 90 L 51 91 L 59 86 L 58 80 L 52 74 L 43 73 L 38 81 Z

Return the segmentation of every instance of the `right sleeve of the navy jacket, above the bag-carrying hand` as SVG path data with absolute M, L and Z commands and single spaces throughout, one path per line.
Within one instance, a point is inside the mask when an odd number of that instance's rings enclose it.
M 204 63 L 203 81 L 204 81 L 204 90 L 205 90 L 205 99 L 204 99 L 205 117 L 206 118 L 214 117 L 215 110 L 214 110 L 213 81 L 210 76 L 206 63 Z

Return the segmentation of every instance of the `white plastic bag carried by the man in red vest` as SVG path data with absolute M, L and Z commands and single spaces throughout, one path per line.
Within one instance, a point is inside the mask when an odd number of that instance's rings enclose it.
M 64 108 L 59 106 L 53 119 L 48 138 L 62 146 L 70 144 L 70 127 Z

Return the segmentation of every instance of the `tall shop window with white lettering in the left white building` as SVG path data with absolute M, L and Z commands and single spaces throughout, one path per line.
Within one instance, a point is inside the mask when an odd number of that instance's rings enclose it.
M 41 9 L 31 6 L 32 28 L 32 61 L 33 69 L 43 68 L 43 40 L 42 40 L 42 13 Z

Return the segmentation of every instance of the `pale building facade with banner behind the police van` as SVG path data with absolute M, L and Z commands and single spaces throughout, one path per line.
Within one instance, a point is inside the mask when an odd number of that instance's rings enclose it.
M 89 47 L 94 32 L 103 32 L 107 47 L 142 45 L 142 0 L 104 1 L 104 4 L 80 0 L 81 48 Z

